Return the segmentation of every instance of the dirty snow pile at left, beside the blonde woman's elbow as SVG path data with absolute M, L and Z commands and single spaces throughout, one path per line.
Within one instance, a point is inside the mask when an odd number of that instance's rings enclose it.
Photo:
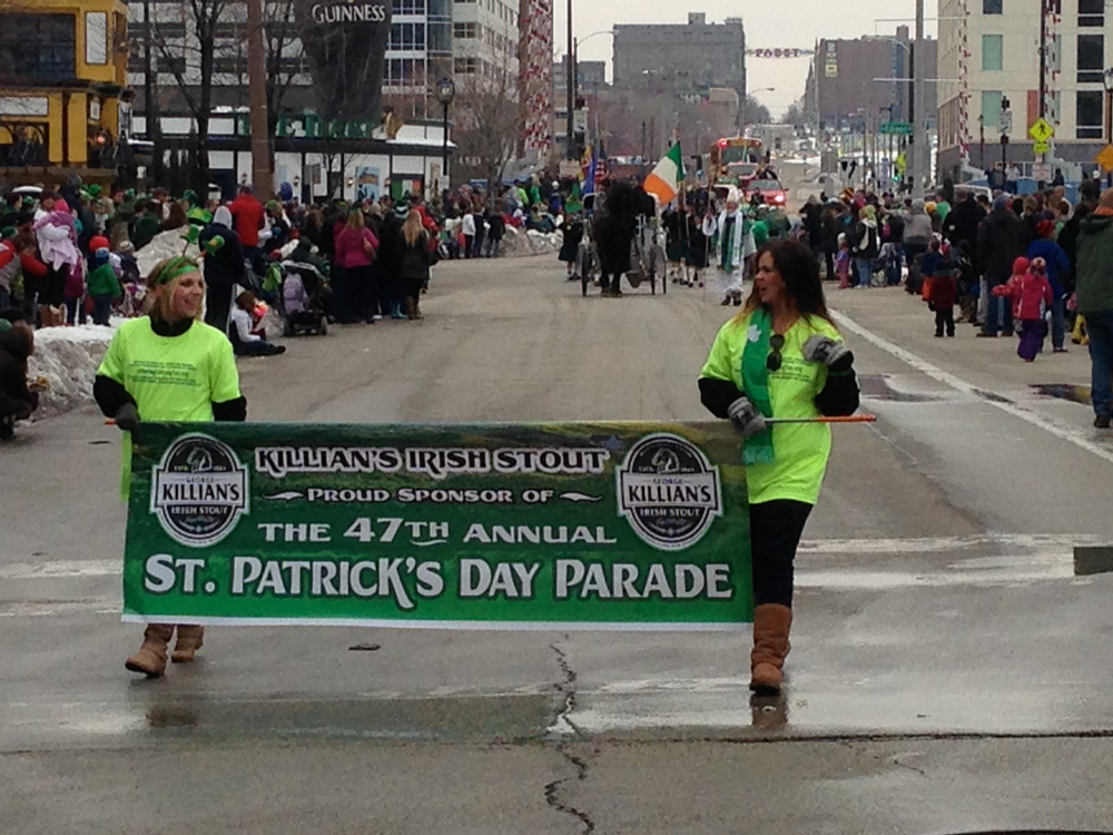
M 45 327 L 35 332 L 28 376 L 45 377 L 49 385 L 39 394 L 36 419 L 92 403 L 92 381 L 114 333 L 114 328 L 100 325 Z

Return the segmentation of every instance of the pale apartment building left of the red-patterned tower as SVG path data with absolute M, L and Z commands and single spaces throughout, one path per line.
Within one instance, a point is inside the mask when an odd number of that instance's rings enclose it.
M 452 65 L 457 78 L 518 81 L 519 0 L 455 0 Z

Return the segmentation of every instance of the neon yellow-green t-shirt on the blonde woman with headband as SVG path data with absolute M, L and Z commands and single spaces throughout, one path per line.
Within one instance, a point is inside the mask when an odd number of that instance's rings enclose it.
M 204 322 L 180 336 L 159 336 L 150 318 L 120 325 L 98 376 L 115 380 L 136 401 L 142 421 L 211 421 L 213 404 L 237 400 L 239 372 L 228 337 Z M 121 493 L 131 485 L 131 439 L 124 441 Z

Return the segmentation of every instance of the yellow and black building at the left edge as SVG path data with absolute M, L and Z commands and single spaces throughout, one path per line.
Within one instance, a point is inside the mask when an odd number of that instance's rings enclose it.
M 127 131 L 127 7 L 120 0 L 0 6 L 0 177 L 115 179 Z M 125 149 L 126 150 L 126 149 Z

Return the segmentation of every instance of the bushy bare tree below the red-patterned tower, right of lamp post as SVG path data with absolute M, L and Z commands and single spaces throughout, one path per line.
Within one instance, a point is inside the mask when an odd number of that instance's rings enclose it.
M 484 179 L 489 193 L 502 181 L 521 132 L 515 84 L 509 65 L 456 77 L 452 140 L 461 176 L 454 179 Z

